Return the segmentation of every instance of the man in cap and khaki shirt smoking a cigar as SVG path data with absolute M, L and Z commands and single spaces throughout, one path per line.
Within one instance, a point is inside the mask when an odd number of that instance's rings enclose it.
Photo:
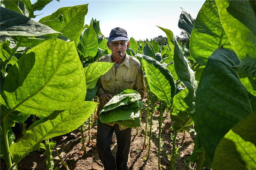
M 99 87 L 99 111 L 121 89 L 134 89 L 142 99 L 145 95 L 145 81 L 139 60 L 125 54 L 129 46 L 127 32 L 122 28 L 113 28 L 108 38 L 108 48 L 112 54 L 105 55 L 99 62 L 114 62 L 113 67 L 97 82 Z M 116 163 L 111 152 L 113 132 L 116 134 Z M 131 128 L 118 124 L 102 123 L 98 119 L 97 150 L 105 170 L 127 170 L 128 155 L 131 144 Z

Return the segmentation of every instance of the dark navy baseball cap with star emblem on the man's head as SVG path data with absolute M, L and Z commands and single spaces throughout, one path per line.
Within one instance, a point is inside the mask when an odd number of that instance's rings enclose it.
M 113 28 L 109 34 L 108 42 L 113 41 L 129 41 L 126 30 L 120 27 Z

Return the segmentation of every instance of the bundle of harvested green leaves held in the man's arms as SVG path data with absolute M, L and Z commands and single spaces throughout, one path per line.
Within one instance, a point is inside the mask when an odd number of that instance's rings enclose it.
M 140 126 L 140 107 L 143 102 L 140 94 L 131 89 L 124 89 L 103 107 L 99 113 L 102 123 L 113 122 L 125 127 Z

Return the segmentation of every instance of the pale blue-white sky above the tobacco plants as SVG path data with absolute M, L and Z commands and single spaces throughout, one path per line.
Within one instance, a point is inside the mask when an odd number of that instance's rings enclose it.
M 35 0 L 32 0 L 34 3 Z M 57 11 L 58 8 L 88 4 L 85 24 L 90 25 L 90 20 L 99 21 L 102 34 L 109 36 L 112 28 L 126 29 L 128 38 L 135 40 L 149 40 L 159 35 L 166 34 L 157 26 L 167 28 L 174 35 L 180 34 L 178 21 L 181 8 L 196 18 L 204 0 L 60 0 L 52 1 L 41 11 L 42 14 L 35 18 L 40 20 Z

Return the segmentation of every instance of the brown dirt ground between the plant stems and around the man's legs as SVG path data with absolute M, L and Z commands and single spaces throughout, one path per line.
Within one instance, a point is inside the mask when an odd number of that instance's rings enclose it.
M 131 148 L 130 155 L 128 160 L 129 170 L 158 170 L 158 157 L 157 157 L 157 136 L 158 136 L 158 121 L 157 113 L 153 117 L 153 130 L 152 130 L 152 142 L 150 148 L 150 156 L 148 157 L 148 137 L 146 141 L 145 148 L 143 149 L 144 135 L 145 135 L 145 118 L 146 113 L 143 110 L 141 115 L 141 127 L 132 129 L 131 137 Z M 148 119 L 149 121 L 150 119 Z M 169 166 L 168 156 L 172 152 L 172 140 L 170 137 L 172 121 L 169 118 L 169 115 L 164 113 L 163 115 L 163 125 L 162 125 L 162 150 L 161 150 L 161 169 L 167 170 Z M 148 128 L 149 131 L 149 128 Z M 103 170 L 103 165 L 99 160 L 99 156 L 94 144 L 96 143 L 96 133 L 97 125 L 94 125 L 91 129 L 91 139 L 92 143 L 89 142 L 88 130 L 84 132 L 86 135 L 86 151 L 82 149 L 81 144 L 81 133 L 80 129 L 74 130 L 72 133 L 75 133 L 76 136 L 73 139 L 67 138 L 67 136 L 58 136 L 54 138 L 56 140 L 57 149 L 63 158 L 64 162 L 67 163 L 70 170 Z M 179 153 L 180 156 L 177 159 L 176 170 L 190 170 L 184 164 L 184 158 L 188 157 L 192 153 L 194 147 L 194 133 L 188 133 L 186 131 L 185 138 L 183 138 L 183 133 L 178 133 L 177 137 L 177 147 L 180 147 Z M 116 154 L 116 140 L 115 135 L 113 135 L 113 144 L 111 145 L 113 155 Z M 66 170 L 64 165 L 61 163 L 58 158 L 56 151 L 52 150 L 52 156 L 54 157 L 55 167 L 58 167 L 59 170 Z M 148 157 L 148 158 L 147 158 Z M 48 170 L 46 164 L 47 156 L 44 155 L 44 150 L 36 150 L 29 153 L 29 156 L 26 156 L 18 163 L 18 170 Z M 192 167 L 193 165 L 191 165 Z M 6 170 L 6 164 L 3 159 L 1 159 L 1 170 Z

